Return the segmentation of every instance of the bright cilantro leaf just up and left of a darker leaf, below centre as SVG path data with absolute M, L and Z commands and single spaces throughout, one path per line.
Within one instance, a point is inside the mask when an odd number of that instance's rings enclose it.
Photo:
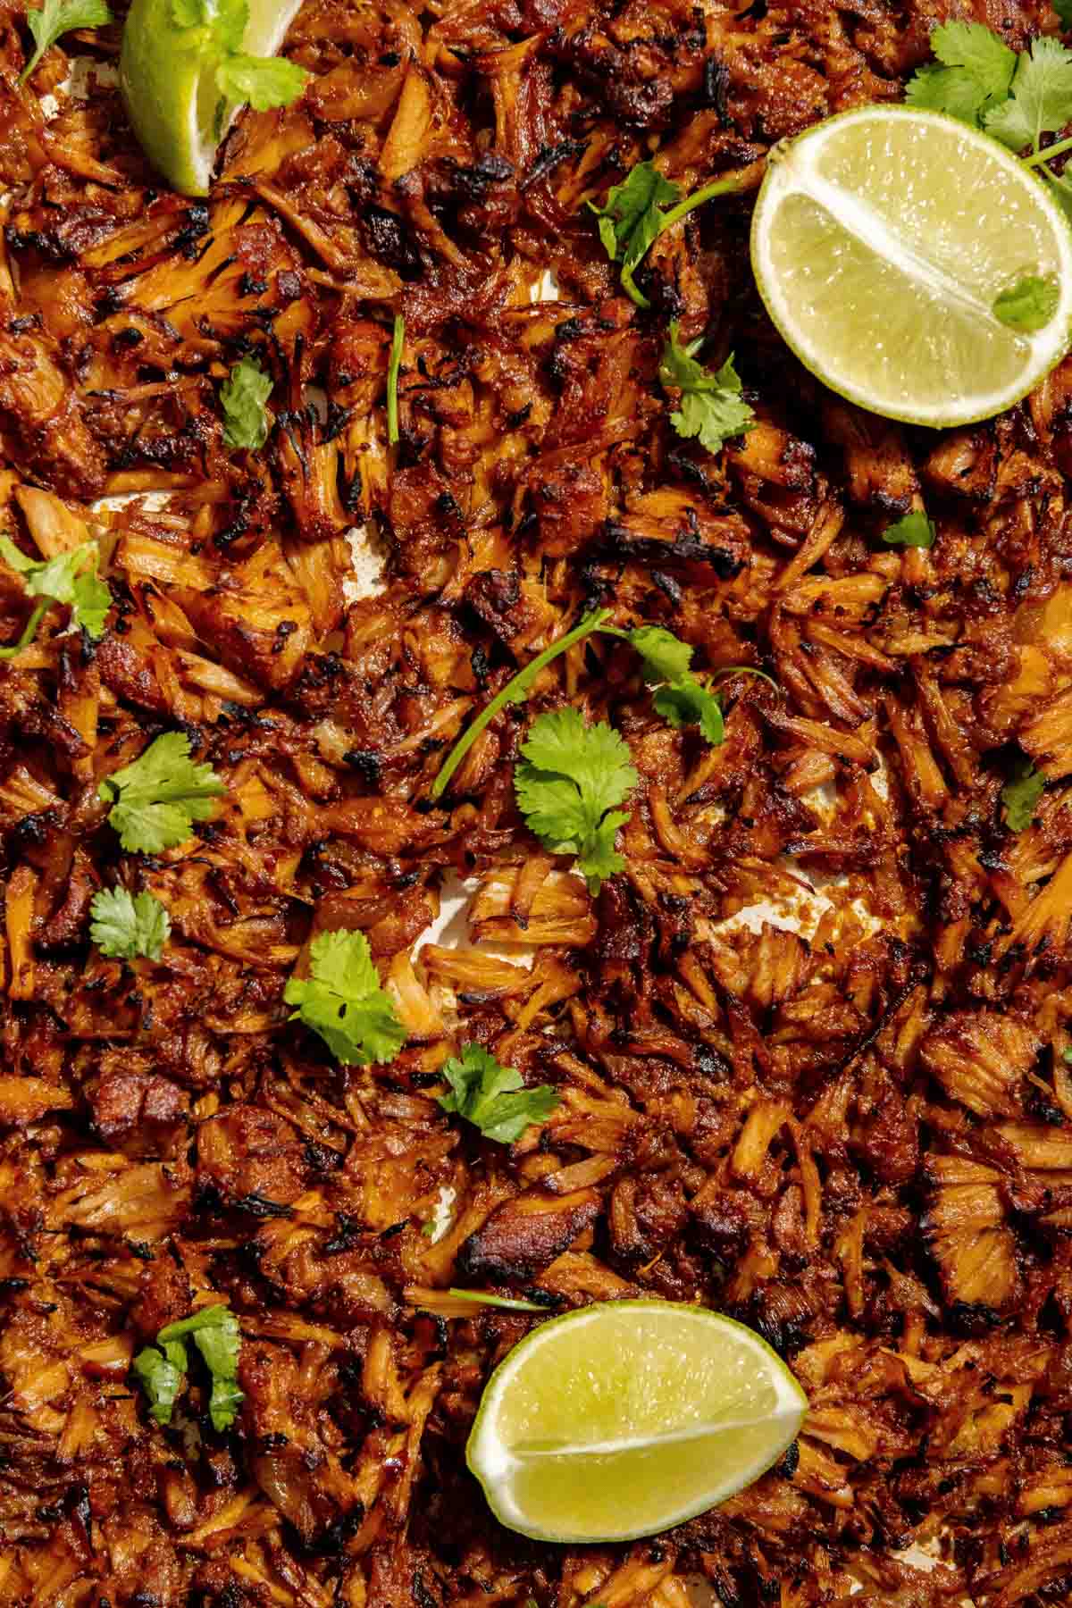
M 320 1034 L 336 1061 L 371 1066 L 392 1061 L 405 1044 L 405 1028 L 379 986 L 363 933 L 318 933 L 309 949 L 309 978 L 283 989 L 291 1021 Z

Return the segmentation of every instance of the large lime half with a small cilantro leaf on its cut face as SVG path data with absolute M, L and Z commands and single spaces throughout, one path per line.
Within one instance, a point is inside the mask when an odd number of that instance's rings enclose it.
M 916 425 L 1000 413 L 1072 339 L 1072 232 L 1059 206 L 1003 145 L 942 113 L 861 106 L 776 146 L 752 269 L 813 375 Z M 1024 277 L 1059 288 L 1033 334 L 993 314 Z

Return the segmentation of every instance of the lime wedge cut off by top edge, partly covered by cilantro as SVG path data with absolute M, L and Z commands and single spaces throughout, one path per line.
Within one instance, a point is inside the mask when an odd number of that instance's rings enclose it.
M 273 56 L 302 0 L 249 0 L 243 50 Z M 204 196 L 215 151 L 239 101 L 215 87 L 215 59 L 188 45 L 172 0 L 133 0 L 122 31 L 119 84 L 138 142 L 154 167 L 185 196 Z

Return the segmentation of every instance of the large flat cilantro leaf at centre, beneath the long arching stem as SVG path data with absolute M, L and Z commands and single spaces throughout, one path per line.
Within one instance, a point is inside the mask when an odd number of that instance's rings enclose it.
M 588 891 L 598 892 L 625 865 L 614 835 L 628 815 L 614 806 L 638 781 L 628 745 L 603 720 L 585 725 L 577 709 L 556 709 L 532 724 L 521 753 L 514 770 L 521 814 L 551 854 L 577 855 Z

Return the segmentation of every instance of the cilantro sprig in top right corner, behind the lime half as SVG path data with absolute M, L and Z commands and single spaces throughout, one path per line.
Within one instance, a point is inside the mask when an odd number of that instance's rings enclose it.
M 1058 133 L 1072 122 L 1072 51 L 1056 39 L 1035 39 L 1030 50 L 1017 55 L 982 23 L 945 23 L 932 31 L 931 48 L 937 63 L 918 68 L 908 80 L 908 105 L 948 113 L 993 135 L 1027 167 L 1040 169 L 1051 195 L 1072 217 L 1072 182 L 1049 166 L 1072 150 L 1072 138 L 1041 145 L 1045 133 Z M 993 312 L 1001 317 L 996 304 Z M 1049 317 L 1054 312 L 1056 301 Z M 1030 317 L 1041 317 L 1037 297 Z M 1011 326 L 1033 331 L 1046 322 Z

